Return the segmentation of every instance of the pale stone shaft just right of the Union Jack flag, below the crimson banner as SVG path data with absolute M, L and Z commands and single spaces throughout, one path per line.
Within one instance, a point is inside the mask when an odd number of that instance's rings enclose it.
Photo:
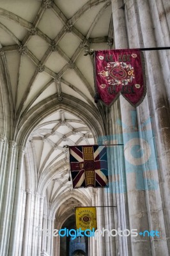
M 109 143 L 123 144 L 123 132 L 121 124 L 121 107 L 120 100 L 116 100 L 114 107 L 111 108 Z M 119 125 L 118 125 L 119 124 Z M 107 148 L 109 161 L 109 189 L 108 193 L 111 200 L 111 205 L 114 208 L 114 228 L 118 230 L 130 229 L 128 217 L 128 198 L 127 198 L 127 181 L 125 172 L 125 157 L 123 154 L 123 146 L 112 146 Z M 112 228 L 111 228 L 112 229 Z M 120 255 L 131 255 L 130 237 L 116 236 L 112 237 L 114 241 L 113 252 Z M 112 244 L 112 243 L 111 243 Z M 113 244 L 112 244 L 113 245 Z

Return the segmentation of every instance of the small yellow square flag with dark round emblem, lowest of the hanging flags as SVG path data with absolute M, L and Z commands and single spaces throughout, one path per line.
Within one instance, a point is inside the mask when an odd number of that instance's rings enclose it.
M 97 229 L 97 209 L 96 207 L 76 207 L 75 208 L 76 229 L 94 230 Z

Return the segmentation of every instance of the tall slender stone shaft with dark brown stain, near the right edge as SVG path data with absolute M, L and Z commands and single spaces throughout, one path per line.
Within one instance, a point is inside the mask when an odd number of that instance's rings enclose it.
M 153 22 L 151 17 L 147 15 L 150 12 L 150 6 L 148 1 L 137 1 L 139 5 L 139 15 L 144 17 L 146 22 L 144 26 L 141 26 L 141 31 L 143 35 L 144 45 L 152 45 L 152 47 L 157 46 L 155 44 L 155 36 L 153 32 Z M 164 79 L 162 76 L 162 71 L 160 68 L 160 61 L 158 58 L 157 51 L 146 52 L 146 65 L 148 67 L 148 73 L 150 74 L 150 92 L 151 92 L 151 105 L 153 106 L 154 120 L 155 120 L 155 130 L 157 133 L 157 147 L 158 147 L 158 160 L 160 163 L 160 168 L 163 172 L 162 182 L 164 182 L 164 204 L 166 208 L 169 209 L 170 202 L 170 122 L 169 122 L 169 108 L 167 106 L 167 95 L 164 85 Z M 169 216 L 170 211 L 166 214 Z M 169 221 L 168 221 L 169 222 Z

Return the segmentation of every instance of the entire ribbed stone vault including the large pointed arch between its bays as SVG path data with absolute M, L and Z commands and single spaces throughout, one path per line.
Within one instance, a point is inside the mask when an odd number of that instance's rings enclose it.
M 84 53 L 111 49 L 111 1 L 1 1 L 0 35 L 10 133 L 26 146 L 22 188 L 45 196 L 44 214 L 61 227 L 75 206 L 91 205 L 91 191 L 68 180 L 64 146 L 94 144 L 106 131 Z

